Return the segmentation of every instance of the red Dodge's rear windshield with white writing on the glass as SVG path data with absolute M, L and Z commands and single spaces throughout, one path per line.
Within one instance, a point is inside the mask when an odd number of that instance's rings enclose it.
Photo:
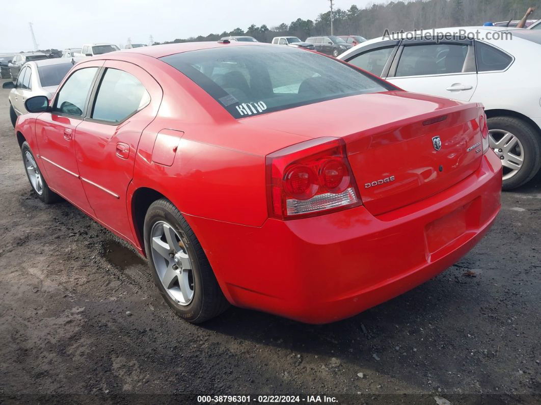
M 291 47 L 202 49 L 161 60 L 192 79 L 235 118 L 396 89 L 335 59 Z

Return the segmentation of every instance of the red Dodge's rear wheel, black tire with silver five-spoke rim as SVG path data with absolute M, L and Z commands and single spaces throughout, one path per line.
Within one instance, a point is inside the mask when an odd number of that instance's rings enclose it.
M 169 200 L 150 205 L 143 233 L 154 283 L 176 315 L 201 323 L 227 309 L 229 303 L 201 244 Z

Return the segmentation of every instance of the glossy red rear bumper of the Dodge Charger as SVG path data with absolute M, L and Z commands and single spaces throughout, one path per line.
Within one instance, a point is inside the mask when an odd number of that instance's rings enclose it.
M 460 183 L 377 217 L 361 206 L 260 228 L 186 219 L 231 303 L 327 323 L 418 286 L 471 250 L 499 212 L 501 170 L 489 151 Z

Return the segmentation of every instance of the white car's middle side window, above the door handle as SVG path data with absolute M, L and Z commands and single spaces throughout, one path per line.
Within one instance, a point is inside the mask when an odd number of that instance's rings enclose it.
M 444 75 L 463 71 L 468 45 L 406 45 L 398 62 L 396 77 Z

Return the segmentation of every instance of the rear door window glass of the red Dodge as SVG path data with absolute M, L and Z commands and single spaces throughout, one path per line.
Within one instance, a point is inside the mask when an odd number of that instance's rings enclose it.
M 122 70 L 107 69 L 91 117 L 100 121 L 121 122 L 149 102 L 150 95 L 137 78 Z

